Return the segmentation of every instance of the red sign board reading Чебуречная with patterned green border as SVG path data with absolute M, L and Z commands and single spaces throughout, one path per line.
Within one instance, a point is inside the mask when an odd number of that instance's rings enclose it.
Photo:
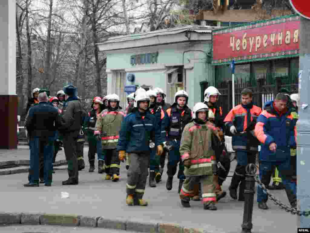
M 213 65 L 299 56 L 297 15 L 214 30 Z

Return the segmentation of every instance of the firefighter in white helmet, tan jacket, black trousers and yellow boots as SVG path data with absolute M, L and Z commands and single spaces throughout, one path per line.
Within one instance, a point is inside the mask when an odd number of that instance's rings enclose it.
M 125 113 L 119 106 L 119 97 L 117 94 L 111 94 L 108 97 L 108 108 L 103 110 L 95 125 L 94 135 L 97 140 L 101 140 L 102 150 L 105 150 L 105 179 L 114 182 L 119 180 L 120 161 L 118 159 L 117 142 L 119 130 Z

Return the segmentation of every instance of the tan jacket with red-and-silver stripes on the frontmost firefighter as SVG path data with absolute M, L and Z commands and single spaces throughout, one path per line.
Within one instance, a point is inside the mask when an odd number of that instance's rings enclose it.
M 212 174 L 212 163 L 216 162 L 212 148 L 214 126 L 200 125 L 192 121 L 182 133 L 180 154 L 182 161 L 191 160 L 191 166 L 185 167 L 185 176 L 203 176 Z

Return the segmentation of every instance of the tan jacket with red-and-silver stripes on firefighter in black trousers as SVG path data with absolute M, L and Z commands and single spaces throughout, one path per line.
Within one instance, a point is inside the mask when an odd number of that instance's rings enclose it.
M 120 109 L 111 112 L 104 109 L 100 112 L 96 121 L 94 135 L 101 134 L 103 149 L 116 148 L 124 116 L 125 113 Z

